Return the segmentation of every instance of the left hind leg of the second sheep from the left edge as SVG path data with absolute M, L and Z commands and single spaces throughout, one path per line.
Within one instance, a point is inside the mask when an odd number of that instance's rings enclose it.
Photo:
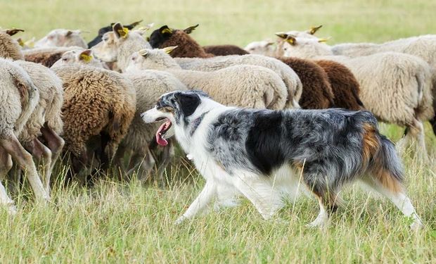
M 30 146 L 30 152 L 33 154 L 37 161 L 39 161 L 39 165 L 42 167 L 43 177 L 42 184 L 46 189 L 47 194 L 50 194 L 50 177 L 51 177 L 51 151 L 48 147 L 44 146 L 38 139 L 33 139 Z

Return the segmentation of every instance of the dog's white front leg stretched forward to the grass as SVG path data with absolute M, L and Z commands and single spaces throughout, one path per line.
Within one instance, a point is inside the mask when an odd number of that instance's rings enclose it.
M 186 212 L 176 220 L 176 225 L 180 224 L 186 219 L 193 218 L 198 213 L 202 213 L 216 195 L 217 185 L 212 181 L 206 182 L 205 187 L 200 194 L 198 194 L 193 203 L 191 203 L 191 206 L 189 206 L 188 210 L 186 210 Z

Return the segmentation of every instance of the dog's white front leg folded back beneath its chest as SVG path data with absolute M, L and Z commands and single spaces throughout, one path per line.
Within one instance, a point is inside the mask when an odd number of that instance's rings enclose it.
M 262 175 L 241 175 L 236 181 L 236 187 L 252 202 L 265 220 L 269 220 L 278 209 L 283 207 L 280 191 L 274 188 Z

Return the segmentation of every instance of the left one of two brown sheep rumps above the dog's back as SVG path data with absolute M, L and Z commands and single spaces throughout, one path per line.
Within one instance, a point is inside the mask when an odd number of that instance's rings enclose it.
M 334 106 L 334 96 L 328 76 L 321 66 L 301 58 L 278 58 L 292 68 L 303 84 L 300 106 L 304 109 L 323 109 Z

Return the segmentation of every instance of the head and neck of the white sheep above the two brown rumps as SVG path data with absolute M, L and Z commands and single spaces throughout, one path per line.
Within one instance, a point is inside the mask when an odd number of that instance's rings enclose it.
M 285 57 L 313 58 L 332 55 L 331 49 L 324 44 L 327 39 L 308 39 L 290 34 L 278 34 L 281 41 L 277 44 L 277 53 Z

